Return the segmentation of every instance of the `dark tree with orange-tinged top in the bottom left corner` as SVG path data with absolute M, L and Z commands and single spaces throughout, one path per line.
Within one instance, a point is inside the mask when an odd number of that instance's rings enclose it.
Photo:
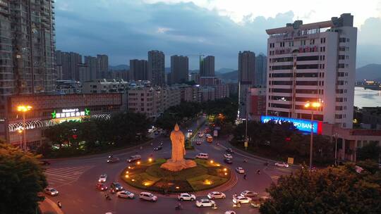
M 0 144 L 1 213 L 35 213 L 47 180 L 37 156 Z

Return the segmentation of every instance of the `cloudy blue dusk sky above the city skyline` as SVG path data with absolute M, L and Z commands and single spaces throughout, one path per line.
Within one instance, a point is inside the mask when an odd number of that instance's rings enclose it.
M 237 68 L 238 51 L 265 53 L 265 30 L 329 20 L 352 13 L 358 27 L 357 67 L 381 63 L 381 0 L 56 0 L 56 49 L 105 53 L 110 65 L 147 58 L 158 49 L 170 56 L 213 55 L 215 67 Z M 365 5 L 365 4 L 363 4 Z M 189 56 L 191 69 L 198 56 Z

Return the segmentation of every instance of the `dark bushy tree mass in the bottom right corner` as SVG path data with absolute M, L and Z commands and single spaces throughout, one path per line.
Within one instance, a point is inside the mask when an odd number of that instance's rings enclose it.
M 356 172 L 349 163 L 310 172 L 307 167 L 282 176 L 267 191 L 260 213 L 379 213 L 381 173 Z

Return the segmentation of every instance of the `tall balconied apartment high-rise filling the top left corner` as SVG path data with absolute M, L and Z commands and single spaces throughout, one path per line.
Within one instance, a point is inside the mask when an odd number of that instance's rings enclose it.
M 5 96 L 53 92 L 54 1 L 0 1 L 0 114 Z

